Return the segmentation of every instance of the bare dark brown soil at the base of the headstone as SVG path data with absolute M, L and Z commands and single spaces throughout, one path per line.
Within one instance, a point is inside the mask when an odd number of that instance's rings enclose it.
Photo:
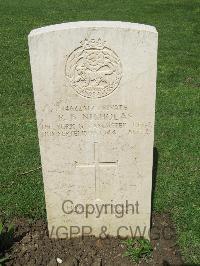
M 6 266 L 138 265 L 123 256 L 126 248 L 119 238 L 50 239 L 44 221 L 15 221 L 13 241 L 6 252 L 10 256 Z M 152 257 L 141 260 L 139 265 L 183 265 L 168 214 L 153 214 L 151 244 Z

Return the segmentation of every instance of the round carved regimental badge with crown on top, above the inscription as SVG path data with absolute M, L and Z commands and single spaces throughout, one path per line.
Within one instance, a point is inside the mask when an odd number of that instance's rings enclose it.
M 66 60 L 71 87 L 86 98 L 102 98 L 119 85 L 122 67 L 117 54 L 101 39 L 85 39 Z

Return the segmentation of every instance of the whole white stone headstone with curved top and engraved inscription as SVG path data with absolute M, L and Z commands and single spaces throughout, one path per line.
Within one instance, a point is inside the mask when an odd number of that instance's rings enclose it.
M 156 29 L 64 23 L 29 50 L 51 237 L 148 237 Z

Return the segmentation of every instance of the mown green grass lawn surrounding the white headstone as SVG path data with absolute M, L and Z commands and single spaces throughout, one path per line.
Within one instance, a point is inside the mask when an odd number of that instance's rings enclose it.
M 46 217 L 27 35 L 79 20 L 159 32 L 153 208 L 171 213 L 185 261 L 200 265 L 200 1 L 0 0 L 0 216 Z

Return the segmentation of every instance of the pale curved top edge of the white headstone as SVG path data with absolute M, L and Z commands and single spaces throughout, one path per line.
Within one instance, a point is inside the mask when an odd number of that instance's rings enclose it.
M 131 22 L 122 22 L 122 21 L 78 21 L 78 22 L 68 22 L 50 25 L 38 29 L 34 29 L 30 32 L 29 37 L 33 35 L 65 30 L 65 29 L 76 29 L 76 28 L 119 28 L 119 29 L 131 29 L 139 31 L 149 31 L 157 33 L 157 30 L 153 26 L 131 23 Z

